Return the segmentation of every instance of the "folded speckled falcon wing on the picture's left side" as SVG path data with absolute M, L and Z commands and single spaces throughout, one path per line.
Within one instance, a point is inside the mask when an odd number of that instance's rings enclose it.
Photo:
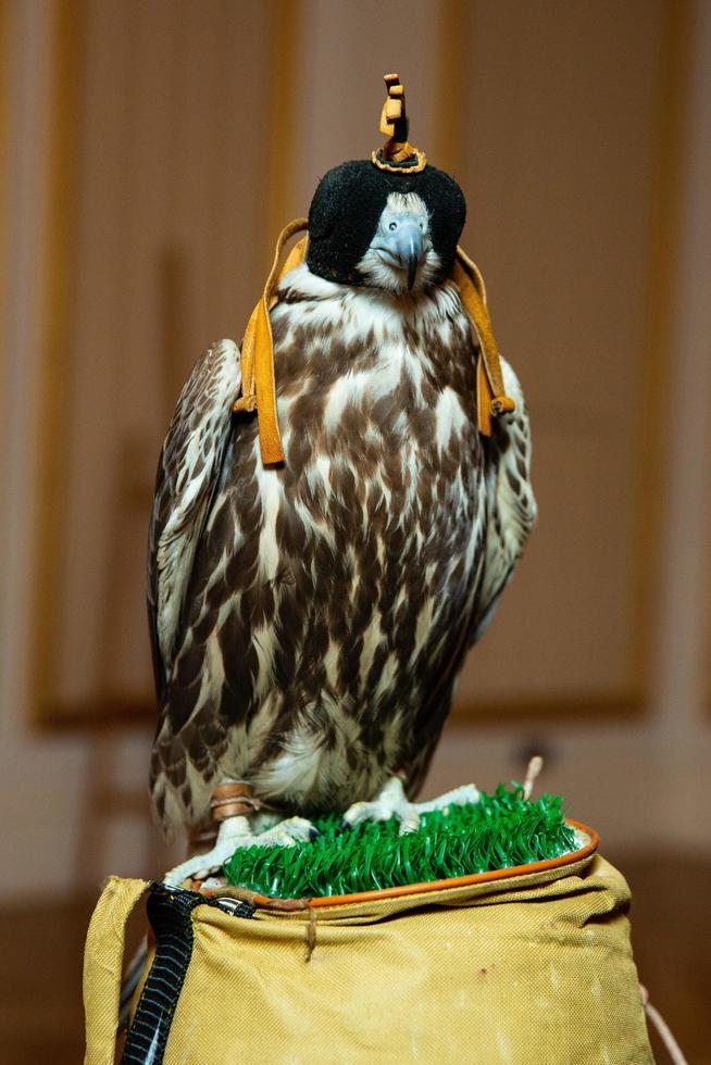
M 211 344 L 178 399 L 155 478 L 148 539 L 148 614 L 162 699 L 180 642 L 183 603 L 229 438 L 241 384 L 239 349 Z

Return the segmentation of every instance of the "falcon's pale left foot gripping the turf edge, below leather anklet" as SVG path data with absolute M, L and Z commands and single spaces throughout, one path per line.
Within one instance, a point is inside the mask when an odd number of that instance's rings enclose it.
M 257 817 L 263 824 L 263 816 Z M 205 854 L 195 854 L 176 865 L 165 874 L 163 882 L 177 888 L 184 880 L 204 880 L 219 870 L 238 847 L 294 847 L 299 841 L 312 840 L 320 835 L 319 829 L 305 817 L 287 817 L 261 832 L 253 831 L 253 827 L 250 818 L 244 815 L 222 820 L 212 850 Z

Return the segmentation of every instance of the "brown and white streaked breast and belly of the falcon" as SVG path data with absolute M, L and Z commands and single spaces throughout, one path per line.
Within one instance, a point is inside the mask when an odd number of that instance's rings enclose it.
M 390 297 L 305 266 L 272 313 L 286 462 L 235 415 L 184 597 L 153 797 L 224 778 L 285 809 L 411 790 L 449 710 L 485 556 L 475 362 L 452 285 Z

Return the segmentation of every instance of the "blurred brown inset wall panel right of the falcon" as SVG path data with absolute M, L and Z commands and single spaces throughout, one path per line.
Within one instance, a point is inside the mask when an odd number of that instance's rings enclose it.
M 465 711 L 641 700 L 668 32 L 662 2 L 474 5 L 465 242 L 529 402 L 540 521 L 469 660 Z

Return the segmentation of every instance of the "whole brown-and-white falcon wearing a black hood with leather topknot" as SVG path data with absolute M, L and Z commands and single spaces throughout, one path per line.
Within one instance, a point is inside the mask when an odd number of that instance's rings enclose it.
M 151 793 L 166 831 L 212 807 L 225 855 L 292 843 L 315 812 L 416 824 L 535 521 L 523 394 L 458 248 L 462 190 L 386 85 L 387 143 L 321 180 L 241 352 L 197 363 L 159 463 Z

